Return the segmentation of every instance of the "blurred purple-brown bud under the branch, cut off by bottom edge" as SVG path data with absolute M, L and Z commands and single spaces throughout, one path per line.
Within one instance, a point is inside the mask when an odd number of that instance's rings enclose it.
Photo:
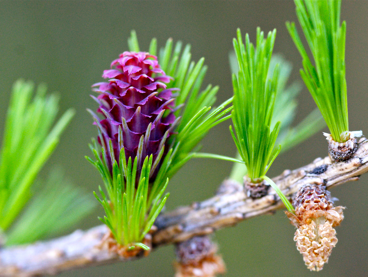
M 225 273 L 217 245 L 208 236 L 193 237 L 176 245 L 175 277 L 215 277 Z

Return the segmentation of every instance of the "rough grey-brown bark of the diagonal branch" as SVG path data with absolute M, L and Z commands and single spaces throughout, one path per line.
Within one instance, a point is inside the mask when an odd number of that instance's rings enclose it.
M 293 171 L 285 170 L 273 181 L 291 200 L 304 184 L 323 183 L 330 188 L 358 180 L 367 171 L 368 140 L 363 138 L 358 143 L 357 152 L 347 161 L 333 163 L 329 157 L 318 158 L 307 166 Z M 210 234 L 219 228 L 281 207 L 283 203 L 272 188 L 266 196 L 252 199 L 240 184 L 227 180 L 216 196 L 159 216 L 155 223 L 158 229 L 153 234 L 153 246 Z M 100 225 L 50 241 L 0 249 L 0 276 L 41 276 L 121 260 L 101 245 L 106 232 L 107 228 Z

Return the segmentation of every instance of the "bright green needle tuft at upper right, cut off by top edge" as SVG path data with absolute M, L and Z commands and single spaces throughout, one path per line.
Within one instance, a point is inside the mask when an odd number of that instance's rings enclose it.
M 333 140 L 346 142 L 349 139 L 345 78 L 346 22 L 340 25 L 341 1 L 294 2 L 300 26 L 314 58 L 312 65 L 295 23 L 286 22 L 303 59 L 301 77 L 325 118 Z

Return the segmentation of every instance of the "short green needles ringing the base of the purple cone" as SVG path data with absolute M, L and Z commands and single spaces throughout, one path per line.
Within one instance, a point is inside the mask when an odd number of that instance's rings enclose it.
M 120 134 L 122 135 L 121 129 Z M 111 141 L 110 146 L 112 146 Z M 128 250 L 134 250 L 135 246 L 148 250 L 149 247 L 142 244 L 141 241 L 151 230 L 156 217 L 166 202 L 168 193 L 163 199 L 161 196 L 169 179 L 167 178 L 159 191 L 156 185 L 151 188 L 149 193 L 149 175 L 153 171 L 152 154 L 145 157 L 140 176 L 138 176 L 139 179 L 136 180 L 138 158 L 135 157 L 132 162 L 131 157 L 129 157 L 127 163 L 124 148 L 120 152 L 120 166 L 115 159 L 113 160 L 112 174 L 107 171 L 106 160 L 99 157 L 96 149 L 92 148 L 92 151 L 96 161 L 88 159 L 100 171 L 107 191 L 106 197 L 102 188 L 99 187 L 102 199 L 97 196 L 96 192 L 93 192 L 106 213 L 106 216 L 99 219 L 110 228 L 117 244 L 128 246 Z M 102 148 L 102 154 L 104 154 L 103 152 L 104 148 Z M 137 187 L 136 184 L 138 184 Z

